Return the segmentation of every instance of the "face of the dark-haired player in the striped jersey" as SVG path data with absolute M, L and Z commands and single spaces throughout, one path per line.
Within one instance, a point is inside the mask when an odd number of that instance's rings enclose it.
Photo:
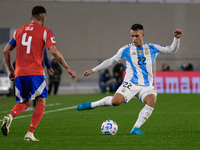
M 131 30 L 131 40 L 136 47 L 143 45 L 144 32 L 143 30 Z

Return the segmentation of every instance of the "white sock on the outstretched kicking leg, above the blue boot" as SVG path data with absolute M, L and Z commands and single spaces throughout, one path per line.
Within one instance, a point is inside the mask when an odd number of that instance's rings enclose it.
M 106 96 L 96 102 L 91 103 L 92 108 L 99 106 L 112 106 L 112 96 Z

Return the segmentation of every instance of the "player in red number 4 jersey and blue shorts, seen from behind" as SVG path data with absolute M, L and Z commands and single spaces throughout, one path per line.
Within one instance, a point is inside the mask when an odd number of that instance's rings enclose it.
M 44 69 L 42 67 L 45 46 L 67 70 L 71 78 L 75 79 L 76 77 L 75 71 L 69 67 L 62 54 L 56 48 L 56 41 L 52 32 L 43 26 L 45 20 L 45 8 L 35 6 L 32 9 L 32 22 L 18 28 L 4 49 L 4 57 L 10 71 L 9 78 L 10 80 L 15 80 L 16 101 L 20 102 L 3 119 L 1 131 L 5 136 L 9 133 L 13 118 L 22 113 L 30 106 L 31 100 L 35 99 L 35 110 L 24 140 L 39 141 L 34 137 L 33 133 L 42 119 L 46 97 L 48 96 Z M 11 62 L 11 51 L 15 47 L 17 56 L 14 70 Z

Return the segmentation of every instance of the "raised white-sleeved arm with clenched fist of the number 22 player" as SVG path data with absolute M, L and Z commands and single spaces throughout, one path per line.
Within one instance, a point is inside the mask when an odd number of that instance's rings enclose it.
M 170 46 L 155 46 L 159 51 L 165 54 L 176 53 L 180 46 L 180 37 L 182 36 L 183 31 L 181 29 L 174 30 L 174 39 Z

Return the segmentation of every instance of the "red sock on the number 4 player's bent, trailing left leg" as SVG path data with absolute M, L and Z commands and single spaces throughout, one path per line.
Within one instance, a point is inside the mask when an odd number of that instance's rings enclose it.
M 12 117 L 16 117 L 17 115 L 21 114 L 26 108 L 28 107 L 28 105 L 26 103 L 18 103 L 16 104 L 13 109 L 10 111 L 10 114 L 12 115 Z

